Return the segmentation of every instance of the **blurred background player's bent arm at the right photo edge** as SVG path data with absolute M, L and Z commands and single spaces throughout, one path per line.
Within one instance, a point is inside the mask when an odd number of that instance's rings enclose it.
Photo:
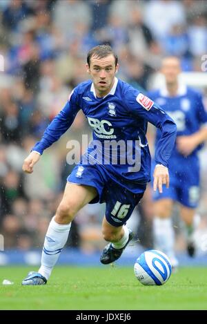
M 178 151 L 188 156 L 192 153 L 199 144 L 202 144 L 207 140 L 207 113 L 202 102 L 201 95 L 197 94 L 197 120 L 200 124 L 199 131 L 191 135 L 178 136 L 176 140 Z

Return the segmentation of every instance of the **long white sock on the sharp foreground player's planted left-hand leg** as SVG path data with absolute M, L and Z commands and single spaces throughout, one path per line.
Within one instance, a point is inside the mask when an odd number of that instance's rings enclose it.
M 50 221 L 41 254 L 41 267 L 38 270 L 39 274 L 44 276 L 47 280 L 50 277 L 53 267 L 57 263 L 61 250 L 68 240 L 70 226 L 71 223 L 60 225 L 55 222 L 55 216 Z

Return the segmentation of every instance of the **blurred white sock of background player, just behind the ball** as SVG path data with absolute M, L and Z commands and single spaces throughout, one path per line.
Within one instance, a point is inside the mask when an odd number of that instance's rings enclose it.
M 164 252 L 170 260 L 175 258 L 175 232 L 170 218 L 154 218 L 153 235 L 155 249 Z

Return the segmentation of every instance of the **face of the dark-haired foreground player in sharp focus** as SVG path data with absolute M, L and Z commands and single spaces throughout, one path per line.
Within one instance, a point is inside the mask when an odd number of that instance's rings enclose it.
M 91 57 L 90 66 L 86 64 L 86 68 L 94 84 L 97 97 L 107 95 L 115 82 L 115 73 L 119 68 L 118 64 L 115 66 L 114 55 L 111 54 L 102 59 Z

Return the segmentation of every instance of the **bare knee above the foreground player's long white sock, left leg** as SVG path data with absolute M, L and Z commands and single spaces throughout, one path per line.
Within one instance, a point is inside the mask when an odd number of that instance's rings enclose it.
M 57 222 L 66 224 L 67 222 L 69 223 L 72 221 L 75 213 L 77 213 L 77 209 L 74 204 L 62 201 L 57 208 L 55 218 Z

